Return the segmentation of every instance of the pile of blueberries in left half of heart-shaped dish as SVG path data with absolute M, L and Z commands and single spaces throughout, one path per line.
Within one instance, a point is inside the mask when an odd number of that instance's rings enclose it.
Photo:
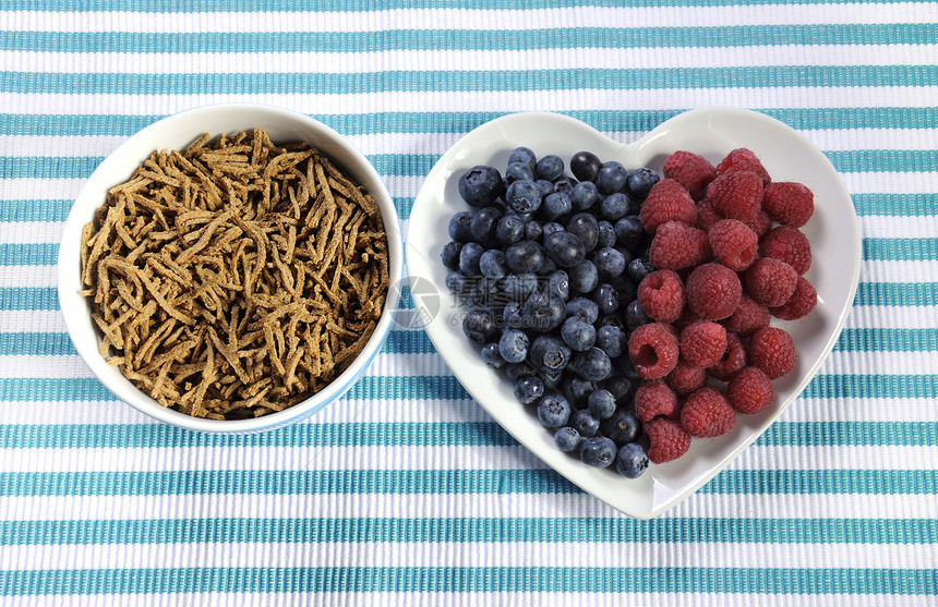
M 654 269 L 639 210 L 660 178 L 589 151 L 569 171 L 558 156 L 518 147 L 504 175 L 491 166 L 462 174 L 472 210 L 449 221 L 446 286 L 466 306 L 464 332 L 556 446 L 636 478 L 648 457 L 627 340 L 650 321 L 636 301 Z

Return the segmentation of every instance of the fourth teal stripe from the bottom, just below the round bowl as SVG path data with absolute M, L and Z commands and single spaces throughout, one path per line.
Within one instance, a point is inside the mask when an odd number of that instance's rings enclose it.
M 775 422 L 760 447 L 934 447 L 931 422 Z M 149 449 L 234 447 L 517 447 L 495 422 L 292 424 L 252 435 L 190 433 L 167 424 L 0 425 L 7 449 Z

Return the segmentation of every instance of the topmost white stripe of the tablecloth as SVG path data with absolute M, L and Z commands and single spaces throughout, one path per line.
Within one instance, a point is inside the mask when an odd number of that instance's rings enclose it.
M 854 2 L 811 7 L 809 13 L 789 5 L 720 7 L 573 7 L 533 10 L 393 9 L 321 12 L 59 12 L 3 11 L 4 28 L 31 32 L 384 32 L 389 23 L 408 29 L 554 29 L 566 27 L 735 26 L 840 23 L 927 22 L 927 2 L 882 7 Z

